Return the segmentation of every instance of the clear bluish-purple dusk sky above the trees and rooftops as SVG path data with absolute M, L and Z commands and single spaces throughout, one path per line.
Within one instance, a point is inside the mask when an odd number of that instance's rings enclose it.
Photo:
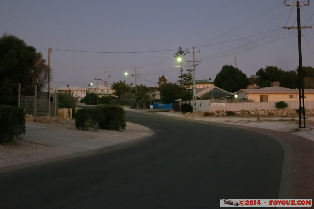
M 313 16 L 312 0 L 301 8 L 301 25 L 313 25 Z M 3 0 L 0 4 L 1 35 L 23 39 L 46 60 L 52 48 L 52 88 L 67 84 L 87 88 L 95 78 L 106 79 L 107 72 L 111 72 L 108 83 L 135 83 L 134 77 L 124 76 L 135 74 L 131 68 L 135 65 L 141 67 L 138 85 L 157 86 L 162 75 L 176 82 L 180 68 L 173 54 L 179 46 L 191 52 L 185 60 L 193 59 L 193 46 L 200 50 L 195 55 L 201 60 L 196 79 L 214 81 L 223 65 L 235 65 L 235 56 L 237 68 L 247 77 L 271 65 L 295 70 L 297 29 L 283 29 L 284 25 L 297 26 L 296 7 L 285 7 L 284 0 Z M 302 34 L 303 66 L 314 67 L 314 29 L 303 29 Z M 185 61 L 182 65 L 187 69 Z

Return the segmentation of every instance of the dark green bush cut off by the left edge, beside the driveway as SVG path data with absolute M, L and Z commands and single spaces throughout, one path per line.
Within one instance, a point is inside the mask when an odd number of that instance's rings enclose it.
M 0 105 L 0 143 L 10 142 L 25 134 L 25 113 L 22 108 Z

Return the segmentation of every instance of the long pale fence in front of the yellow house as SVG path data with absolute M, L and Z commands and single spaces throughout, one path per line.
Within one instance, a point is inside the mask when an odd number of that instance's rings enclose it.
M 288 109 L 299 109 L 299 101 L 285 101 L 288 104 Z M 193 101 L 184 101 L 191 103 Z M 214 106 L 212 103 L 223 103 L 224 106 Z M 276 110 L 276 102 L 226 102 L 225 99 L 206 99 L 196 100 L 196 110 L 200 112 L 215 112 L 219 110 L 241 111 L 241 110 Z M 314 109 L 314 101 L 305 101 L 305 109 Z

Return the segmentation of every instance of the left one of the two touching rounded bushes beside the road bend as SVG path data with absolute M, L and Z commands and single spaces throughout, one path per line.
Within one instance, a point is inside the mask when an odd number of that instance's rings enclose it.
M 80 109 L 76 113 L 75 127 L 80 130 L 98 129 L 98 124 L 103 120 L 103 117 L 102 111 L 97 108 Z

